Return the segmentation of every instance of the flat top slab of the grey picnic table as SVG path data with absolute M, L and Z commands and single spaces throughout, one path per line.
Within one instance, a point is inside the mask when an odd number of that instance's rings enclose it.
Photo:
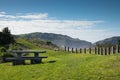
M 46 53 L 45 50 L 12 50 L 11 53 Z

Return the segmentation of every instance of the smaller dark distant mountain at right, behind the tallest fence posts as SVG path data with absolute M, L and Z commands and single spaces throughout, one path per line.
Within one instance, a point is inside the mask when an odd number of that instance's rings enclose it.
M 98 44 L 98 45 L 116 45 L 116 44 L 118 44 L 118 42 L 120 43 L 120 36 L 110 37 L 110 38 L 98 41 L 95 44 Z

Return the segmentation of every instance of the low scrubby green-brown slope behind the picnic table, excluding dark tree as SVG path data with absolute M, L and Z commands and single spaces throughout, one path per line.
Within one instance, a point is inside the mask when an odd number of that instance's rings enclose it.
M 28 47 L 29 49 L 40 49 L 40 48 L 47 48 L 47 49 L 54 49 L 58 48 L 56 45 L 52 44 L 49 41 L 41 41 L 39 39 L 23 39 L 18 38 L 16 39 L 18 44 L 22 44 L 23 46 Z

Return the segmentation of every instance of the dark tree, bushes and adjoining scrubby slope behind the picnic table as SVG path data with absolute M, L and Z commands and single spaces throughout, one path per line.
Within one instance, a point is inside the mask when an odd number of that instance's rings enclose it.
M 10 50 L 22 50 L 22 49 L 39 49 L 40 47 L 53 49 L 57 46 L 49 41 L 41 41 L 39 39 L 14 39 L 10 33 L 8 27 L 4 28 L 0 32 L 0 63 L 5 62 L 6 57 L 12 57 L 13 54 L 9 54 Z M 58 47 L 57 47 L 58 48 Z

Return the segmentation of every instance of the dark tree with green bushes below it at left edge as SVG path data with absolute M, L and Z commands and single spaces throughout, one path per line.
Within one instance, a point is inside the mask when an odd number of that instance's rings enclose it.
M 0 62 L 5 62 L 6 57 L 11 57 L 12 55 L 8 53 L 9 45 L 14 44 L 15 40 L 10 33 L 8 27 L 4 28 L 0 32 Z

